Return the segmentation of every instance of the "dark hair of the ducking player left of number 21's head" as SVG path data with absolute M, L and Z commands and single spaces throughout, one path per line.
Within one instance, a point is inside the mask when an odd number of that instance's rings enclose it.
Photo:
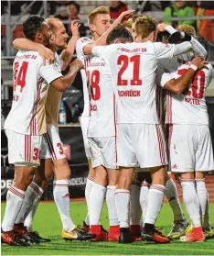
M 133 42 L 133 37 L 131 33 L 124 28 L 122 25 L 117 26 L 112 29 L 112 32 L 109 33 L 106 43 L 112 44 L 115 39 L 120 39 L 122 43 L 124 42 Z

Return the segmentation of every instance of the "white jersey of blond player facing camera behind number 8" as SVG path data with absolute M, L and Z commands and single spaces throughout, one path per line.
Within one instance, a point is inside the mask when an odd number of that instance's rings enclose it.
M 87 85 L 87 78 L 86 78 L 86 69 L 91 61 L 92 56 L 85 55 L 83 52 L 83 48 L 93 41 L 89 38 L 80 38 L 77 40 L 76 43 L 76 52 L 77 58 L 82 61 L 84 64 L 85 70 L 81 70 L 81 79 L 82 79 L 82 86 L 83 86 L 83 97 L 84 97 L 84 110 L 82 113 L 82 117 L 89 117 L 90 116 L 90 99 L 89 99 L 89 91 Z

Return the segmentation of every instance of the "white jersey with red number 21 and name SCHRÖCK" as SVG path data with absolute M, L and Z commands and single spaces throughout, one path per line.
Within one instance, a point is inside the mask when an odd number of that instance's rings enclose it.
M 158 61 L 173 57 L 174 45 L 151 41 L 114 44 L 95 47 L 92 53 L 110 64 L 117 123 L 159 124 L 155 74 Z

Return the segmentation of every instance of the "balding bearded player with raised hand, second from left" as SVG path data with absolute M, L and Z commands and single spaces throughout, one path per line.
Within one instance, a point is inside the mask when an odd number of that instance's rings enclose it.
M 75 50 L 75 44 L 79 39 L 79 21 L 73 21 L 71 23 L 72 38 L 67 45 L 68 35 L 63 23 L 58 18 L 48 18 L 48 25 L 53 33 L 50 49 L 56 52 L 57 50 L 63 50 L 60 57 L 56 53 L 55 67 L 59 72 L 65 70 L 70 63 Z M 14 42 L 16 49 L 34 49 L 39 50 L 41 45 L 27 40 L 16 39 Z M 83 67 L 80 60 L 76 59 L 70 64 L 70 68 L 76 73 Z M 75 78 L 75 76 L 74 76 Z M 27 200 L 22 206 L 18 216 L 16 217 L 16 231 L 21 232 L 24 227 L 24 220 L 27 217 L 28 212 L 33 208 L 33 213 L 37 209 L 39 198 L 47 186 L 49 178 L 52 176 L 52 161 L 54 167 L 54 199 L 59 209 L 59 215 L 62 221 L 63 229 L 61 235 L 63 239 L 91 239 L 91 235 L 85 234 L 80 228 L 77 228 L 72 219 L 70 218 L 70 166 L 66 159 L 63 150 L 63 144 L 59 138 L 58 124 L 59 124 L 59 106 L 62 94 L 53 87 L 48 90 L 48 98 L 46 102 L 46 115 L 48 132 L 44 135 L 42 150 L 41 150 L 41 166 L 37 169 L 33 182 L 27 188 L 27 198 L 33 202 L 31 207 L 26 211 L 29 202 Z M 40 191 L 40 195 L 35 193 Z M 46 241 L 47 239 L 39 239 L 37 234 L 32 230 L 32 212 L 29 213 L 25 224 L 30 231 L 30 235 L 36 235 L 39 241 Z

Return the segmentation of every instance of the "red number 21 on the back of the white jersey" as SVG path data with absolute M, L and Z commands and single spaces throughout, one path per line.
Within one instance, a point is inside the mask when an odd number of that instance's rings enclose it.
M 130 59 L 126 55 L 119 56 L 117 60 L 118 65 L 122 65 L 121 70 L 117 75 L 117 85 L 128 85 L 128 80 L 122 79 L 123 72 L 127 69 L 129 63 L 133 62 L 133 79 L 130 80 L 131 85 L 142 85 L 142 80 L 140 79 L 140 55 L 134 55 Z

